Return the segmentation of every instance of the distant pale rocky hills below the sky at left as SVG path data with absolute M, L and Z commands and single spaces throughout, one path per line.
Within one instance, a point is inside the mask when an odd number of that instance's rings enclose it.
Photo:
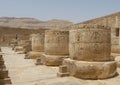
M 27 29 L 63 28 L 71 24 L 73 23 L 57 19 L 49 21 L 40 21 L 35 18 L 0 17 L 0 26 L 2 27 L 27 28 Z

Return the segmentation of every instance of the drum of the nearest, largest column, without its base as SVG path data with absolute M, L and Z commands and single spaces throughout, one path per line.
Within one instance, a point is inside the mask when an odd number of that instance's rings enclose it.
M 83 61 L 110 60 L 110 29 L 102 26 L 86 26 L 70 31 L 70 57 Z

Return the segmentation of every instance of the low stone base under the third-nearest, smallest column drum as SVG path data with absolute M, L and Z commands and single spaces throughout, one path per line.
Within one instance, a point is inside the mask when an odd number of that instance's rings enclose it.
M 38 59 L 41 58 L 42 54 L 44 52 L 34 52 L 34 51 L 30 51 L 26 54 L 25 59 Z

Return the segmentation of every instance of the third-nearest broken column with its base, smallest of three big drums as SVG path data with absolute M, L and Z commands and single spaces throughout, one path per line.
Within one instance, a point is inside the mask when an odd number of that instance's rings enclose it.
M 44 33 L 31 35 L 32 51 L 26 54 L 26 59 L 38 59 L 44 52 Z

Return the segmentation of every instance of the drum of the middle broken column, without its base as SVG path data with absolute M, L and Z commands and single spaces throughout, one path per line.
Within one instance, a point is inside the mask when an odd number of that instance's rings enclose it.
M 60 30 L 45 31 L 45 54 L 68 55 L 69 32 Z

